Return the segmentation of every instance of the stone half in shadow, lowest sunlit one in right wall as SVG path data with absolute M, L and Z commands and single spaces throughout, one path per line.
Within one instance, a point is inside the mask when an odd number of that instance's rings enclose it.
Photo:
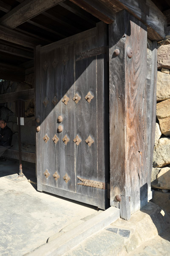
M 156 179 L 151 183 L 153 188 L 170 189 L 170 167 L 154 168 Z

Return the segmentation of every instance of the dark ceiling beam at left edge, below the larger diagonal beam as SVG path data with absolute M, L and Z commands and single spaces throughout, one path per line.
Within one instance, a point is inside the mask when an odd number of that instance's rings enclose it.
M 36 37 L 26 35 L 13 29 L 8 29 L 2 25 L 0 25 L 0 39 L 32 49 L 34 49 L 36 45 L 47 44 L 47 41 L 45 40 L 43 41 Z

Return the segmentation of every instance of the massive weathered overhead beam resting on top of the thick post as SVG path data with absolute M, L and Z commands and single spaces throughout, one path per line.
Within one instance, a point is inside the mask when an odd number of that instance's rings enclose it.
M 166 17 L 151 0 L 70 0 L 105 23 L 112 23 L 114 13 L 126 9 L 148 28 L 148 38 L 164 39 Z

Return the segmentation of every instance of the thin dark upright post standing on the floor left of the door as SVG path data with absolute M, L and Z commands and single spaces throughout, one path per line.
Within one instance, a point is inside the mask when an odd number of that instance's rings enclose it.
M 17 100 L 17 117 L 18 117 L 18 150 L 19 150 L 19 165 L 20 165 L 19 177 L 23 177 L 22 153 L 21 153 L 20 100 Z

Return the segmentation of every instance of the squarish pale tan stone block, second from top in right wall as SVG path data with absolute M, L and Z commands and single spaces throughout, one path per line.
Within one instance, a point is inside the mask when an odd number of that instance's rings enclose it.
M 170 74 L 157 72 L 156 98 L 157 101 L 170 99 Z

